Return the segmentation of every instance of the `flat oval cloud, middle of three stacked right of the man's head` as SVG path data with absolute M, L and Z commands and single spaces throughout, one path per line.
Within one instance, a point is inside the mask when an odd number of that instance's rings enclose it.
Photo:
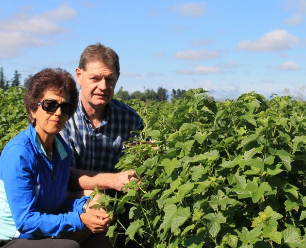
M 179 60 L 210 60 L 220 56 L 219 52 L 207 50 L 185 50 L 175 54 L 175 58 Z

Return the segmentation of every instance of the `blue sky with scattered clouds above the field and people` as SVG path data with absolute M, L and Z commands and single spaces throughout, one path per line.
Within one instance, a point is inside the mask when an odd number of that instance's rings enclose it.
M 306 96 L 306 0 L 0 0 L 8 79 L 45 67 L 74 75 L 83 49 L 96 42 L 119 55 L 116 91 Z

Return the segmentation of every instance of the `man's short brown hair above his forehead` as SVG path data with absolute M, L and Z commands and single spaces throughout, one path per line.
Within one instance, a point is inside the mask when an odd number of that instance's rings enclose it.
M 119 56 L 110 47 L 103 46 L 100 42 L 95 45 L 89 45 L 81 54 L 79 68 L 86 71 L 86 65 L 89 62 L 103 62 L 107 66 L 115 66 L 116 73 L 119 75 Z

